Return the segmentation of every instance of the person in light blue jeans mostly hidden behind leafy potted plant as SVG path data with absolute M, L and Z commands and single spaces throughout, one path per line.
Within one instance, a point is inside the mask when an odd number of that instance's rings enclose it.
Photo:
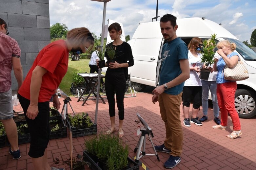
M 215 53 L 214 58 L 220 58 L 221 56 L 218 53 Z M 214 122 L 219 125 L 221 123 L 219 119 L 219 112 L 220 108 L 218 105 L 217 100 L 217 83 L 216 83 L 216 75 L 217 71 L 210 72 L 208 80 L 201 80 L 202 82 L 202 88 L 203 88 L 203 94 L 202 94 L 202 107 L 203 107 L 203 114 L 204 116 L 199 119 L 200 122 L 204 122 L 208 119 L 207 113 L 208 113 L 208 98 L 209 98 L 209 91 L 211 92 L 211 101 L 212 101 L 212 107 L 213 107 L 213 114 L 214 114 Z

